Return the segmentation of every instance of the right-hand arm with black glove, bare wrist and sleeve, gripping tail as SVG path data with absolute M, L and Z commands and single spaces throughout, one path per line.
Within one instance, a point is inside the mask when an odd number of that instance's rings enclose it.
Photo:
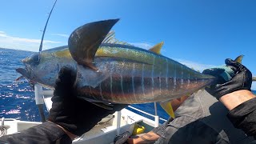
M 236 71 L 234 77 L 228 82 L 218 83 L 206 90 L 230 110 L 227 117 L 234 127 L 256 138 L 256 98 L 250 90 L 252 74 L 246 66 L 231 59 L 226 59 L 226 66 Z M 205 72 L 216 76 L 214 69 Z

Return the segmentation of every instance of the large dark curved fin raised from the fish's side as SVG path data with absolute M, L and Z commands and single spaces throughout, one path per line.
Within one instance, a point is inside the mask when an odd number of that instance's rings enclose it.
M 119 19 L 87 23 L 70 34 L 69 50 L 72 58 L 82 66 L 98 70 L 94 65 L 94 55 L 110 29 Z

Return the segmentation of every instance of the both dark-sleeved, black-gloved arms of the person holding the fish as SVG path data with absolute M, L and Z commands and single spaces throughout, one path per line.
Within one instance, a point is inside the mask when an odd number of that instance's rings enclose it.
M 218 98 L 229 110 L 230 122 L 247 135 L 256 138 L 256 98 L 250 92 L 252 74 L 242 64 L 226 59 L 236 74 L 225 83 L 218 83 L 206 90 Z M 206 74 L 217 75 L 217 70 L 206 70 Z M 75 97 L 75 74 L 63 68 L 56 82 L 53 106 L 47 122 L 0 138 L 2 143 L 71 143 L 74 138 L 90 130 L 97 122 L 126 105 L 114 105 L 113 110 L 101 107 Z M 86 110 L 86 113 L 84 113 Z

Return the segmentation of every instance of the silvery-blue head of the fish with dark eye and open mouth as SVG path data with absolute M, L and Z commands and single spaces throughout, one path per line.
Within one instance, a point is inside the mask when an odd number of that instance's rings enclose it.
M 16 71 L 31 82 L 38 82 L 48 88 L 53 88 L 58 72 L 68 64 L 67 58 L 60 57 L 57 52 L 36 53 L 22 59 L 25 68 L 18 68 Z M 59 53 L 59 50 L 58 50 Z

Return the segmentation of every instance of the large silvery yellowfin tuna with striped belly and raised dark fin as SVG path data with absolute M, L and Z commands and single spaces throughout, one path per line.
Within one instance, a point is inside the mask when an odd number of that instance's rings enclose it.
M 53 88 L 59 70 L 70 67 L 77 73 L 78 97 L 94 103 L 164 102 L 214 82 L 213 76 L 192 70 L 153 49 L 114 40 L 113 34 L 108 33 L 116 22 L 118 19 L 78 27 L 70 34 L 68 46 L 25 58 L 22 62 L 26 69 L 17 71 Z

